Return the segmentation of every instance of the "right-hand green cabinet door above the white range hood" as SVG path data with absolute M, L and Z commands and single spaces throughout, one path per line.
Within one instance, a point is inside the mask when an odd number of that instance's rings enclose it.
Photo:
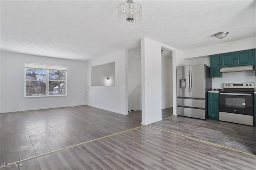
M 236 66 L 252 65 L 252 50 L 244 50 L 236 52 Z

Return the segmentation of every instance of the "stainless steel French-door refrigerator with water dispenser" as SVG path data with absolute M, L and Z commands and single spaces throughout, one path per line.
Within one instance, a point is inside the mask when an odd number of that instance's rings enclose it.
M 177 114 L 206 119 L 208 90 L 212 90 L 210 67 L 205 64 L 177 67 Z

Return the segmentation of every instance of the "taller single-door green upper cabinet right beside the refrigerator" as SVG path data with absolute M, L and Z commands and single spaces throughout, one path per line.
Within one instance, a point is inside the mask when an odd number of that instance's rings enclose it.
M 210 56 L 210 77 L 222 77 L 220 72 L 220 54 Z

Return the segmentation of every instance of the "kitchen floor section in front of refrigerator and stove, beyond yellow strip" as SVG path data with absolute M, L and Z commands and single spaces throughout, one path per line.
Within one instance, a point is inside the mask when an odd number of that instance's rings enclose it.
M 182 116 L 150 125 L 256 155 L 256 127 L 253 126 Z

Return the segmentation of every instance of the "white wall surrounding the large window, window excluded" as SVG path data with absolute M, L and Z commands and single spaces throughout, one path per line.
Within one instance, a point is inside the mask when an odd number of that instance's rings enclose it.
M 24 98 L 24 63 L 68 66 L 67 96 Z M 86 62 L 1 52 L 1 113 L 85 104 Z

